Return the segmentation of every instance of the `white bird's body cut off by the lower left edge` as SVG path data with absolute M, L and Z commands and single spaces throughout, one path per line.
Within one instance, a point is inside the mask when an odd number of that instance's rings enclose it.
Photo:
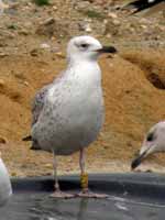
M 0 206 L 4 206 L 12 195 L 9 173 L 7 167 L 0 158 Z

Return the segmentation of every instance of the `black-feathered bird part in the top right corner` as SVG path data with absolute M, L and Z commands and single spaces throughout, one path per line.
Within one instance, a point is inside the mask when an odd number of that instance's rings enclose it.
M 132 8 L 134 9 L 133 13 L 148 9 L 145 15 L 150 15 L 157 11 L 165 9 L 165 0 L 134 0 L 129 2 L 123 9 Z

